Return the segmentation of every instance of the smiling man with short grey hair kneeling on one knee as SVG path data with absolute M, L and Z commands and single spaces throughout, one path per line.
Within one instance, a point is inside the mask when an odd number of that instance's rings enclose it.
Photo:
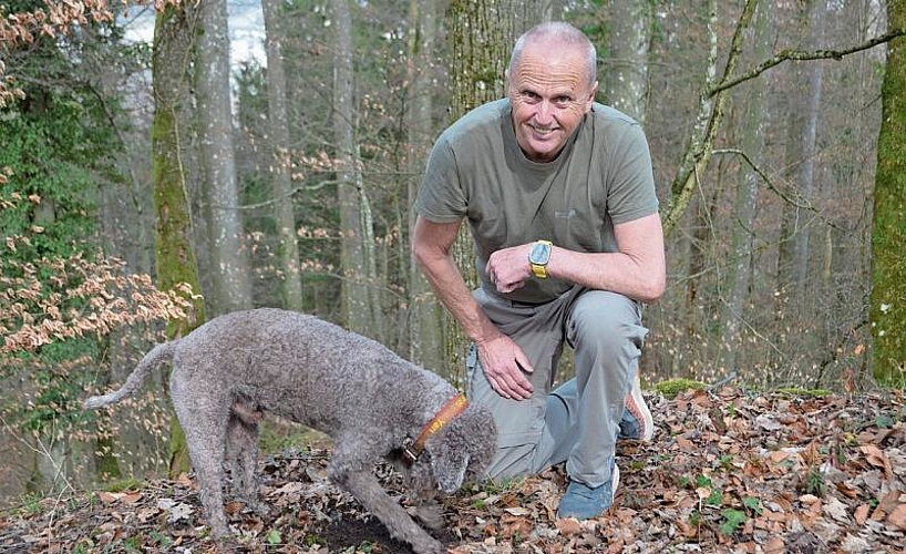
M 635 121 L 594 102 L 596 63 L 594 45 L 566 23 L 521 37 L 507 98 L 435 143 L 412 239 L 473 340 L 471 398 L 492 409 L 500 432 L 488 476 L 565 461 L 558 516 L 577 519 L 612 503 L 618 430 L 650 438 L 632 381 L 647 334 L 641 305 L 666 281 L 648 145 Z M 463 218 L 481 276 L 474 294 L 450 255 Z M 552 391 L 564 342 L 576 377 Z

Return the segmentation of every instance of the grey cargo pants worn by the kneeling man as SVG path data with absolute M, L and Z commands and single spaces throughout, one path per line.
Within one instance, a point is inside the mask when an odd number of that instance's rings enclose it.
M 593 488 L 608 482 L 624 399 L 648 332 L 641 325 L 641 305 L 578 286 L 539 305 L 481 288 L 473 296 L 534 368 L 527 373 L 532 397 L 505 399 L 485 378 L 474 345 L 470 348 L 470 398 L 491 409 L 498 432 L 486 476 L 528 475 L 565 461 L 574 481 Z M 564 343 L 574 349 L 575 377 L 552 390 Z

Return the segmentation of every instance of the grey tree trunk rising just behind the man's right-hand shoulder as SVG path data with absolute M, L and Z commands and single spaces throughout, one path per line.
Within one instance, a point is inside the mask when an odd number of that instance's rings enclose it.
M 600 83 L 607 102 L 639 123 L 645 123 L 648 102 L 652 8 L 647 0 L 610 0 L 610 52 Z

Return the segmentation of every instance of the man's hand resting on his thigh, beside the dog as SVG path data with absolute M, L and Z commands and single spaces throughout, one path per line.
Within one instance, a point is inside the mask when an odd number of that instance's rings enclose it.
M 532 396 L 532 383 L 525 372 L 534 371 L 522 348 L 506 335 L 476 341 L 478 359 L 484 376 L 497 394 L 512 400 L 525 400 Z

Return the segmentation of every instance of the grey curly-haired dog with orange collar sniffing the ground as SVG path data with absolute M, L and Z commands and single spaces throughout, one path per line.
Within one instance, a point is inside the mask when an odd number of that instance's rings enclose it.
M 223 505 L 225 452 L 241 497 L 267 510 L 255 478 L 265 412 L 329 434 L 328 476 L 420 554 L 445 548 L 381 488 L 374 463 L 384 458 L 401 466 L 413 496 L 430 503 L 439 488 L 450 494 L 482 475 L 495 451 L 490 412 L 463 409 L 464 399 L 435 373 L 316 317 L 270 308 L 220 316 L 156 346 L 122 388 L 89 398 L 85 408 L 122 400 L 164 361 L 173 363 L 171 396 L 202 504 L 224 545 L 233 543 Z M 446 412 L 451 399 L 462 411 Z M 442 521 L 436 513 L 435 520 Z

